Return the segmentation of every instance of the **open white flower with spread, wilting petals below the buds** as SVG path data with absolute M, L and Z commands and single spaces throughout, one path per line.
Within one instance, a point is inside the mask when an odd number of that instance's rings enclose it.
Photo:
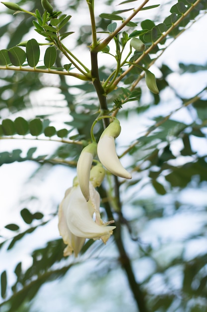
M 79 184 L 66 191 L 59 206 L 59 231 L 64 243 L 68 244 L 64 255 L 74 252 L 75 257 L 81 250 L 85 239 L 101 239 L 104 243 L 113 234 L 116 226 L 109 226 L 114 221 L 104 223 L 100 216 L 100 196 L 90 183 L 90 199 L 85 200 Z M 95 221 L 93 215 L 95 214 Z

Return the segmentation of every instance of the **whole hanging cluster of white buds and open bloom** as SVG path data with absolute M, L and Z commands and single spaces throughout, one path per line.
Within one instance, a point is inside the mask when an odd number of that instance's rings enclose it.
M 100 195 L 95 187 L 100 186 L 105 169 L 111 173 L 130 179 L 131 174 L 122 166 L 115 149 L 115 138 L 119 136 L 119 121 L 113 122 L 103 131 L 98 144 L 95 142 L 85 147 L 77 162 L 77 177 L 73 181 L 59 206 L 59 231 L 67 244 L 64 256 L 80 252 L 85 239 L 101 239 L 106 243 L 116 226 L 114 220 L 103 222 L 100 216 Z M 101 163 L 92 166 L 94 157 L 98 155 Z

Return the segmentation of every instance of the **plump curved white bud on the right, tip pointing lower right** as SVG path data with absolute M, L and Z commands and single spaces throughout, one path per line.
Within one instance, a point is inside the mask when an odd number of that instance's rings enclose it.
M 131 179 L 132 175 L 123 167 L 116 153 L 115 138 L 119 136 L 120 132 L 120 122 L 118 119 L 114 119 L 103 131 L 99 139 L 97 154 L 100 162 L 111 173 L 126 179 Z

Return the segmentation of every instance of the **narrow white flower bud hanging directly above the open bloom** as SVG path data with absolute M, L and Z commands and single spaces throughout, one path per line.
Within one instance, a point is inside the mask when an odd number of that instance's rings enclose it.
M 97 144 L 91 143 L 86 146 L 80 153 L 77 161 L 77 178 L 80 185 L 81 192 L 85 197 L 86 201 L 89 200 L 89 180 L 90 180 L 90 169 L 93 162 L 93 157 L 96 156 Z

